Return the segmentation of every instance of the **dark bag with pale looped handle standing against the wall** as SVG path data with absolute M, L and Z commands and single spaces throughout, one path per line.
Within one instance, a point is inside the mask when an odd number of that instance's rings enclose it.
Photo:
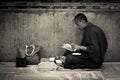
M 40 63 L 41 46 L 23 45 L 18 48 L 16 57 L 16 67 L 25 67 L 26 65 L 36 65 Z

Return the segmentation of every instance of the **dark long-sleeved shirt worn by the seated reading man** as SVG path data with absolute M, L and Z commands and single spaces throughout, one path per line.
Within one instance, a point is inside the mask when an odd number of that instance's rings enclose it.
M 88 54 L 95 63 L 102 64 L 108 47 L 104 32 L 91 23 L 88 23 L 84 30 L 81 45 L 86 46 L 87 51 L 82 51 L 82 53 Z

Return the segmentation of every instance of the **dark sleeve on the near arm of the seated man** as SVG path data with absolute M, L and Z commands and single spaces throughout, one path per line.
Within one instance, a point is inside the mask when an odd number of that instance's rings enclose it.
M 101 60 L 98 37 L 99 36 L 97 35 L 97 32 L 95 31 L 88 32 L 86 36 L 86 47 L 87 47 L 86 52 L 88 53 L 89 56 L 92 57 L 92 59 L 96 63 L 99 63 Z

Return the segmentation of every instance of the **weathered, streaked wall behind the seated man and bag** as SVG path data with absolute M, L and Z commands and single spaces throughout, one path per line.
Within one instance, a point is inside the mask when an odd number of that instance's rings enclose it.
M 62 55 L 63 43 L 79 44 L 82 32 L 73 18 L 80 10 L 39 10 L 0 12 L 0 61 L 14 61 L 17 48 L 34 42 L 43 46 L 42 57 Z M 88 20 L 100 26 L 109 43 L 105 61 L 120 61 L 120 12 L 83 12 Z

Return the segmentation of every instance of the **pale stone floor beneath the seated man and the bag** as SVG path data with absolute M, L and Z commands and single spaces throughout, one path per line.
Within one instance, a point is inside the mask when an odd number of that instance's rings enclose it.
M 64 69 L 42 60 L 38 65 L 16 68 L 15 62 L 0 62 L 0 80 L 120 80 L 120 63 L 104 63 L 102 69 Z

